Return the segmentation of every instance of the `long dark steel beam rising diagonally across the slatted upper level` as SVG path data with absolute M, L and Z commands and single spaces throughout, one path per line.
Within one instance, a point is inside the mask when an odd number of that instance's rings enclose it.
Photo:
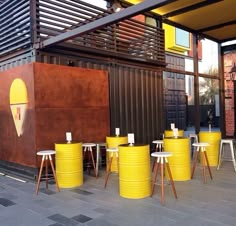
M 126 9 L 121 10 L 120 12 L 108 15 L 106 17 L 102 17 L 101 19 L 92 21 L 88 24 L 82 25 L 81 27 L 75 28 L 66 33 L 49 38 L 39 44 L 36 44 L 35 48 L 40 49 L 69 39 L 73 39 L 79 35 L 86 34 L 97 29 L 101 29 L 104 26 L 115 24 L 119 21 L 125 20 L 127 18 L 130 18 L 146 11 L 150 11 L 152 9 L 161 7 L 174 1 L 176 0 L 145 0 L 142 3 L 130 6 Z

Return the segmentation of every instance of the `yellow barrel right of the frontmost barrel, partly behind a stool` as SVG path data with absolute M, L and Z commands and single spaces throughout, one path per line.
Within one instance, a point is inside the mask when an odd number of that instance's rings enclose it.
M 164 138 L 164 151 L 173 155 L 168 158 L 174 181 L 186 181 L 191 178 L 190 140 L 188 137 Z M 169 177 L 167 170 L 165 175 Z

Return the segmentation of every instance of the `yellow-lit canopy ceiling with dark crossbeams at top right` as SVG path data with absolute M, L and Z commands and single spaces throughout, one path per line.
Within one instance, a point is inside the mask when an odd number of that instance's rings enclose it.
M 143 0 L 126 2 L 137 4 Z M 236 39 L 235 11 L 235 0 L 166 0 L 163 6 L 153 10 L 162 16 L 164 22 L 199 33 L 219 43 Z

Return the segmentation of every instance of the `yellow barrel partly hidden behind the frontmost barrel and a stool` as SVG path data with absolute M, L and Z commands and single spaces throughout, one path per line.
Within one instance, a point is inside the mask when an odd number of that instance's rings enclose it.
M 128 144 L 127 136 L 107 136 L 106 143 L 108 148 L 117 148 L 120 144 Z M 107 153 L 107 163 L 111 153 Z M 111 172 L 118 172 L 116 158 L 113 158 Z

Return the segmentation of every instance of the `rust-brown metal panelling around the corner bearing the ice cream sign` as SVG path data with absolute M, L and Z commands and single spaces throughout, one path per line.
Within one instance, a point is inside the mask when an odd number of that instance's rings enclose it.
M 65 142 L 67 131 L 74 141 L 105 141 L 110 129 L 106 71 L 33 63 L 0 74 L 1 160 L 36 167 L 36 151 Z M 21 135 L 9 105 L 15 79 L 24 82 L 28 94 L 21 103 L 27 104 Z M 17 86 L 13 94 L 19 93 Z

